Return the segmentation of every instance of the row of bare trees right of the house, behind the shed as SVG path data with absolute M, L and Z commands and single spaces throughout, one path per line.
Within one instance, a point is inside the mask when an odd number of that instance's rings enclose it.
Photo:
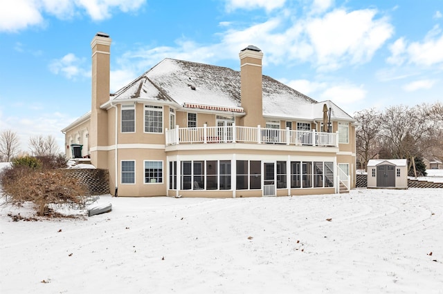
M 356 156 L 359 168 L 369 159 L 412 158 L 424 169 L 423 158 L 443 161 L 443 104 L 420 104 L 413 107 L 390 106 L 383 111 L 374 108 L 354 114 Z M 416 166 L 416 168 L 417 168 Z

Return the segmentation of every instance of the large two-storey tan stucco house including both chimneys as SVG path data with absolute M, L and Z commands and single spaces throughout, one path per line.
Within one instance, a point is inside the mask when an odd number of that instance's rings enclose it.
M 91 111 L 62 131 L 67 157 L 79 144 L 81 156 L 109 170 L 112 194 L 257 197 L 355 187 L 354 119 L 262 75 L 259 48 L 239 52 L 240 71 L 163 59 L 111 94 L 109 35 L 98 33 L 91 48 Z

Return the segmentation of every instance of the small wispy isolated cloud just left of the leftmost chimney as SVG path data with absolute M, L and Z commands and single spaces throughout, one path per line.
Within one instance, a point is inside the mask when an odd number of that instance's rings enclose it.
M 78 58 L 73 53 L 69 53 L 61 59 L 54 59 L 49 65 L 49 70 L 55 75 L 64 75 L 68 79 L 89 77 L 91 76 L 90 71 L 82 68 L 84 63 L 86 63 L 85 59 Z

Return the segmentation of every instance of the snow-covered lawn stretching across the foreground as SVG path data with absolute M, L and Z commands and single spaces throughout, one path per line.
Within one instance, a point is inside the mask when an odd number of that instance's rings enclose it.
M 109 202 L 42 222 L 0 206 L 0 292 L 443 291 L 443 189 Z

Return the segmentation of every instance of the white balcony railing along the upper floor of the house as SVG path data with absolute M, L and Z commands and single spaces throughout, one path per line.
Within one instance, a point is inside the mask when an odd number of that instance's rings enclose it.
M 284 144 L 338 147 L 337 133 L 316 130 L 261 128 L 260 126 L 206 126 L 165 130 L 166 146 L 177 144 Z

